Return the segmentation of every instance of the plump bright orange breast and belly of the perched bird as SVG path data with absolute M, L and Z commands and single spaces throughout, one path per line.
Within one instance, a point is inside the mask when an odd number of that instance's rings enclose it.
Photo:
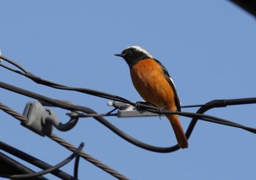
M 174 103 L 172 87 L 155 60 L 151 58 L 140 60 L 132 67 L 130 73 L 133 85 L 145 101 L 166 108 Z

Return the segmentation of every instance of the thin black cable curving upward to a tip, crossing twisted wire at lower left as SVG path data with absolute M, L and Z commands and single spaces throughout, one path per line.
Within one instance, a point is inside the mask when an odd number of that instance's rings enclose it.
M 82 151 L 83 146 L 84 146 L 84 144 L 81 143 L 80 146 L 78 147 L 78 149 L 76 149 L 75 152 L 73 152 L 73 154 L 71 154 L 69 157 L 67 157 L 66 160 L 62 161 L 61 163 L 59 163 L 57 165 L 54 165 L 52 168 L 48 168 L 47 170 L 40 171 L 38 173 L 13 175 L 13 176 L 10 176 L 10 179 L 31 179 L 31 178 L 34 178 L 34 177 L 37 177 L 37 176 L 42 176 L 42 175 L 45 175 L 46 173 L 50 173 L 52 171 L 55 171 L 55 170 L 61 168 L 62 166 L 66 165 L 67 163 L 69 163 L 75 157 L 77 157 L 78 154 Z

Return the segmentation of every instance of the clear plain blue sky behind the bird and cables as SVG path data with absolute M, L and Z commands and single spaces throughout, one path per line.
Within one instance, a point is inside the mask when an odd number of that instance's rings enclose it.
M 214 99 L 255 97 L 255 18 L 230 1 L 1 1 L 4 56 L 27 71 L 64 85 L 141 98 L 132 86 L 127 64 L 114 54 L 130 45 L 146 48 L 168 69 L 182 105 Z M 1 81 L 50 98 L 109 111 L 108 100 L 37 85 L 1 69 Z M 20 113 L 27 98 L 0 89 L 1 102 Z M 207 114 L 256 127 L 255 105 L 230 106 Z M 68 111 L 54 109 L 62 122 Z M 197 109 L 182 109 L 195 112 Z M 51 165 L 71 154 L 48 138 L 20 126 L 0 111 L 1 141 Z M 108 117 L 140 141 L 176 144 L 166 118 Z M 190 119 L 180 117 L 184 129 Z M 198 122 L 189 149 L 168 154 L 148 152 L 127 143 L 92 118 L 66 132 L 54 130 L 130 179 L 253 179 L 255 134 Z M 33 166 L 29 166 L 36 171 Z M 61 168 L 72 174 L 73 163 Z M 54 176 L 46 176 L 56 179 Z M 80 179 L 113 179 L 80 161 Z

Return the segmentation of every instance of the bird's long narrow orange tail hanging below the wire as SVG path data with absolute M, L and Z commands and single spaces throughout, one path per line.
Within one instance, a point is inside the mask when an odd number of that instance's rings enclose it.
M 181 126 L 181 122 L 178 120 L 178 116 L 166 114 L 166 117 L 170 121 L 170 124 L 173 126 L 173 130 L 178 141 L 178 146 L 180 146 L 182 149 L 187 148 L 189 144 Z

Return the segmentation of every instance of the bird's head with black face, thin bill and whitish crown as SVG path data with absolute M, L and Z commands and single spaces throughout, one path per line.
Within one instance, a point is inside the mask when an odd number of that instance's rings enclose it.
M 153 56 L 150 55 L 149 52 L 144 50 L 142 47 L 137 46 L 127 47 L 127 49 L 123 50 L 121 54 L 116 55 L 124 58 L 124 60 L 127 61 L 129 69 L 132 69 L 132 66 L 138 63 L 140 60 L 146 58 L 153 58 Z

